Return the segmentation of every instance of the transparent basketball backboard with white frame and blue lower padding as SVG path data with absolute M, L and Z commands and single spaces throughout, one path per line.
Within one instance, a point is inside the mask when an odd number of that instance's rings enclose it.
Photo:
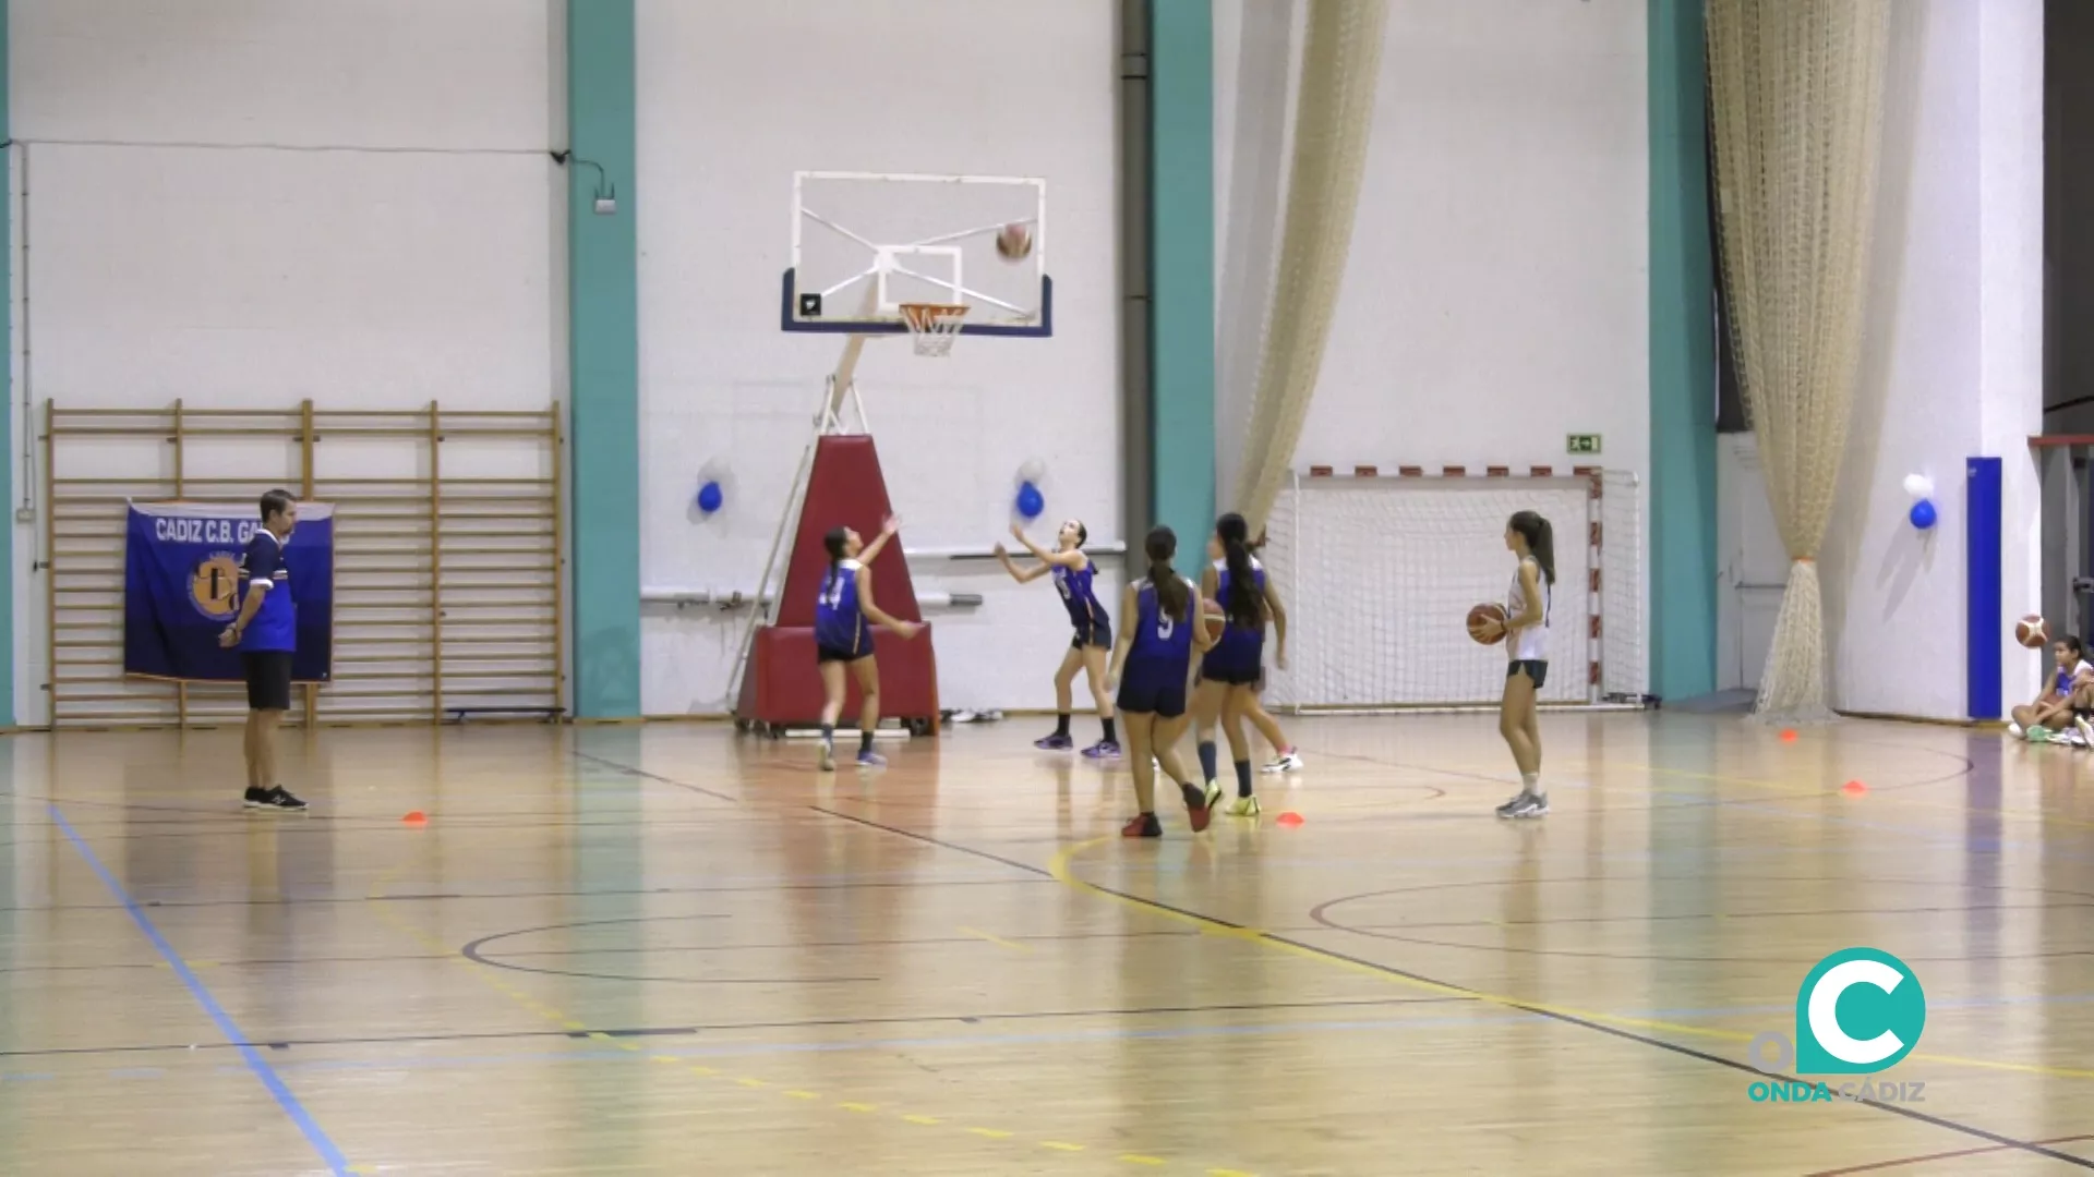
M 967 335 L 1053 335 L 1047 180 L 796 172 L 785 331 L 892 335 L 903 304 L 963 304 Z M 1022 224 L 1032 251 L 1005 258 Z

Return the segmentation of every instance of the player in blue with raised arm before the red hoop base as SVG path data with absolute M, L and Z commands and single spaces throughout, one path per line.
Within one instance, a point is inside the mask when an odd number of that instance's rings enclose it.
M 879 662 L 873 658 L 873 626 L 888 626 L 903 639 L 923 628 L 879 612 L 873 603 L 873 559 L 888 547 L 900 519 L 888 515 L 879 538 L 865 542 L 850 528 L 831 528 L 821 538 L 829 551 L 829 572 L 821 576 L 815 597 L 815 662 L 821 666 L 821 771 L 836 771 L 836 718 L 844 714 L 844 668 L 859 679 L 859 764 L 877 769 L 886 758 L 873 752 L 873 731 L 879 727 Z M 871 622 L 871 624 L 867 624 Z

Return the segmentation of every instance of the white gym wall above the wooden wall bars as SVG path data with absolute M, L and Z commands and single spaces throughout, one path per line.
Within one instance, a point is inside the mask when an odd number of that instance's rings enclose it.
M 547 157 L 559 4 L 13 0 L 8 15 L 19 431 L 23 398 L 565 398 Z M 15 478 L 19 496 L 21 463 Z M 46 706 L 40 528 L 15 526 L 19 723 Z

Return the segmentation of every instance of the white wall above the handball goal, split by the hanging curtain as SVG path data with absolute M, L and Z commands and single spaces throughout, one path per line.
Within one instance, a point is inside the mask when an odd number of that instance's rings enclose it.
M 1288 0 L 1215 2 L 1225 501 L 1256 383 L 1244 341 L 1271 281 L 1258 258 L 1279 245 L 1284 191 L 1267 178 L 1290 163 L 1300 15 Z M 1390 2 L 1351 258 L 1294 469 L 1598 463 L 1646 484 L 1644 59 L 1644 0 Z M 1600 434 L 1602 454 L 1566 454 L 1566 434 Z M 1558 536 L 1575 536 L 1564 524 Z M 1642 549 L 1648 568 L 1648 532 Z

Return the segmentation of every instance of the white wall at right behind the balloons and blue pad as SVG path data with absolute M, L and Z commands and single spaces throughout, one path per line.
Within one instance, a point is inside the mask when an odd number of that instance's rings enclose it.
M 2044 232 L 2042 0 L 1891 6 L 1868 341 L 1822 576 L 1832 706 L 1962 718 L 1964 459 L 2004 467 L 2002 605 L 2037 612 Z M 1941 521 L 1906 519 L 1908 473 Z M 2040 653 L 2006 641 L 2006 704 Z

